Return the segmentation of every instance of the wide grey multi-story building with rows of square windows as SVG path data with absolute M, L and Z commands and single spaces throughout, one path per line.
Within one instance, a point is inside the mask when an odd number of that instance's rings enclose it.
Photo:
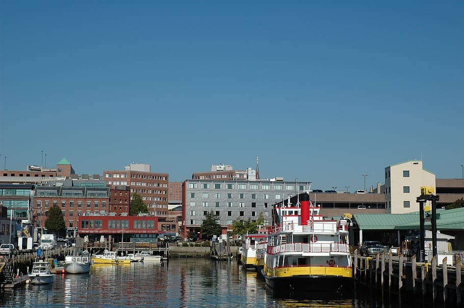
M 186 180 L 183 183 L 183 234 L 198 232 L 205 215 L 213 210 L 223 230 L 233 220 L 255 221 L 263 213 L 270 220 L 272 205 L 310 189 L 310 182 L 272 180 Z

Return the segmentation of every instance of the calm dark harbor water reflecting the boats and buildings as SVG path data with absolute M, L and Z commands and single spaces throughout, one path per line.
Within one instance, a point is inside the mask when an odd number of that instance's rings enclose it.
M 234 261 L 94 265 L 89 274 L 57 274 L 50 285 L 0 291 L 3 307 L 397 307 L 358 288 L 351 294 L 280 294 Z

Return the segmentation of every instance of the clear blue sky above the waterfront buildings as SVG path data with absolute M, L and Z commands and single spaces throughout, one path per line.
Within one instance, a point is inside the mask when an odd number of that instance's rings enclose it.
M 464 164 L 462 1 L 0 1 L 0 167 L 354 191 Z

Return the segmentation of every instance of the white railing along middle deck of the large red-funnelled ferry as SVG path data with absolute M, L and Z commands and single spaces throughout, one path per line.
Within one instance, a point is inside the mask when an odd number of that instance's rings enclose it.
M 349 253 L 349 245 L 344 243 L 286 243 L 268 246 L 269 254 L 278 253 Z

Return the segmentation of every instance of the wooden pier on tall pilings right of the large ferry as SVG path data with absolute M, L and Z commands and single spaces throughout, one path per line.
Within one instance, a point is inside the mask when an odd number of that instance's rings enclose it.
M 401 303 L 421 303 L 424 306 L 462 305 L 461 259 L 455 265 L 437 265 L 436 257 L 430 263 L 416 262 L 416 256 L 409 261 L 403 256 L 377 254 L 375 257 L 354 256 L 354 276 L 360 286 L 377 291 L 386 300 Z

